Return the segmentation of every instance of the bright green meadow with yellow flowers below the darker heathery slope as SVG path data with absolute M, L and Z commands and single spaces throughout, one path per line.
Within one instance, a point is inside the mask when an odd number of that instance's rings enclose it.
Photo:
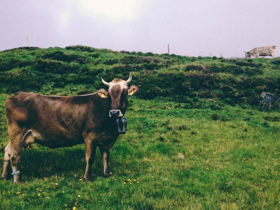
M 8 143 L 7 96 L 0 97 L 2 146 Z M 51 150 L 35 144 L 22 154 L 25 183 L 0 181 L 0 209 L 278 209 L 280 114 L 254 113 L 133 97 L 127 134 L 110 150 L 116 180 L 102 177 L 98 150 L 94 182 L 85 183 L 84 145 Z M 217 115 L 222 120 L 213 120 Z

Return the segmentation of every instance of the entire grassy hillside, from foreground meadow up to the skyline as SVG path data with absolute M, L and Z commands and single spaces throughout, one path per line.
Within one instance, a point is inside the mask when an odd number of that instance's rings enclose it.
M 0 209 L 280 209 L 279 102 L 270 111 L 259 102 L 261 92 L 279 97 L 279 58 L 84 46 L 0 52 L 1 162 L 8 95 L 82 95 L 106 89 L 100 77 L 129 71 L 140 90 L 129 98 L 127 133 L 110 150 L 113 177 L 102 176 L 99 150 L 94 181 L 85 183 L 84 145 L 34 144 L 22 153 L 24 184 L 0 181 Z

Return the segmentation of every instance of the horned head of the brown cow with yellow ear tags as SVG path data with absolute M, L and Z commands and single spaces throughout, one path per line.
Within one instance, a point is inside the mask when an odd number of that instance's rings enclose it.
M 108 85 L 108 91 L 100 89 L 97 91 L 97 95 L 101 98 L 109 97 L 111 99 L 111 109 L 109 111 L 109 117 L 122 117 L 125 114 L 127 106 L 127 95 L 131 96 L 138 92 L 139 88 L 135 85 L 130 87 L 127 84 L 131 81 L 132 75 L 129 73 L 127 81 L 122 79 L 113 79 L 112 82 L 105 82 L 101 78 L 101 82 L 104 85 Z

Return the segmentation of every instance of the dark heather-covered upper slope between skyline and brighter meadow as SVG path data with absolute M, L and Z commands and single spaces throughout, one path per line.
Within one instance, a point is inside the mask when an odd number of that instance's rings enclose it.
M 218 59 L 84 46 L 17 48 L 0 52 L 0 91 L 81 95 L 100 88 L 101 76 L 110 81 L 127 78 L 132 71 L 140 99 L 162 97 L 186 108 L 211 108 L 213 103 L 204 100 L 211 98 L 215 106 L 241 104 L 261 110 L 261 92 L 279 96 L 279 64 L 279 58 Z M 279 106 L 274 104 L 274 109 Z

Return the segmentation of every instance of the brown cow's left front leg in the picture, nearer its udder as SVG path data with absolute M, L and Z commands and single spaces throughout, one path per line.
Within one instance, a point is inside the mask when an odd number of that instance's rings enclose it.
M 85 169 L 85 181 L 92 181 L 92 164 L 95 159 L 96 146 L 92 143 L 85 142 L 85 160 L 87 161 L 87 167 Z

